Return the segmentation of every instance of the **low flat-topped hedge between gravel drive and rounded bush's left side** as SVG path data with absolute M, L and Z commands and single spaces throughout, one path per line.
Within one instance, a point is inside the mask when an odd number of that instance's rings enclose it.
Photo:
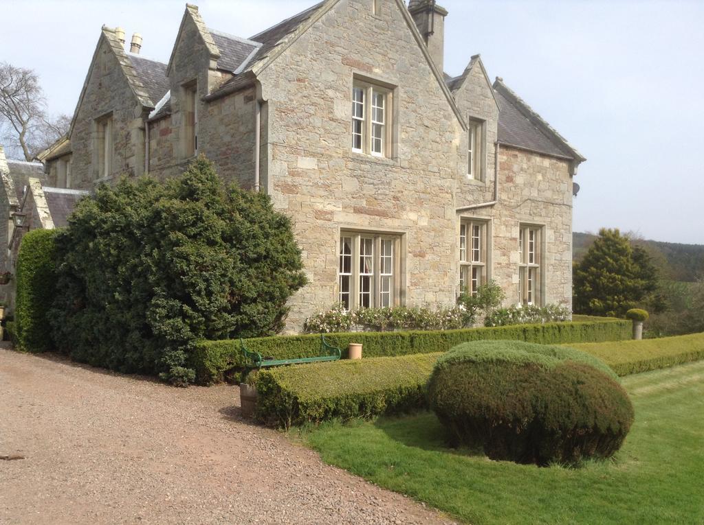
M 289 428 L 333 418 L 350 420 L 425 408 L 427 380 L 440 355 L 260 370 L 256 375 L 256 417 Z

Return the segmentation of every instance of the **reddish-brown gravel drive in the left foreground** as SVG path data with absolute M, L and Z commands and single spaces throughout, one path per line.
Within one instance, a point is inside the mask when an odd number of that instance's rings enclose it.
M 0 524 L 446 523 L 239 416 L 239 389 L 175 389 L 0 347 Z

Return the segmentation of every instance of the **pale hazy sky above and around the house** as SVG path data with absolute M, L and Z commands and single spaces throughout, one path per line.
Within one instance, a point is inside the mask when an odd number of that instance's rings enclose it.
M 208 27 L 249 37 L 316 0 L 190 0 Z M 439 0 L 445 69 L 481 53 L 587 162 L 574 231 L 620 228 L 704 244 L 704 1 Z M 51 112 L 73 115 L 103 24 L 167 62 L 181 0 L 0 0 L 0 61 L 42 79 Z M 17 23 L 13 23 L 16 20 Z

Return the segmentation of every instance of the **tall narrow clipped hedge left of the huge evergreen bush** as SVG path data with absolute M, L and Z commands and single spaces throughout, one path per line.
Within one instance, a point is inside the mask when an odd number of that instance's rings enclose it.
M 49 307 L 56 296 L 56 230 L 32 230 L 23 236 L 17 258 L 15 328 L 23 351 L 54 348 Z

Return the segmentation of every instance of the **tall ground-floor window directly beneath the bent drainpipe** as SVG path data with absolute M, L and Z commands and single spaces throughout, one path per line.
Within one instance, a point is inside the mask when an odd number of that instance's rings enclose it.
M 477 294 L 486 284 L 486 247 L 489 226 L 486 221 L 463 219 L 460 222 L 460 293 Z

